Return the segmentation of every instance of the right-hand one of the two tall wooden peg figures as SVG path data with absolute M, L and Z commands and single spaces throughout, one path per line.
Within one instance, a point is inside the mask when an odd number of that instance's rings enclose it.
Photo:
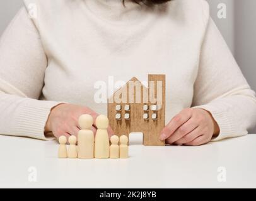
M 108 138 L 108 117 L 100 115 L 96 118 L 95 158 L 109 158 L 110 144 Z

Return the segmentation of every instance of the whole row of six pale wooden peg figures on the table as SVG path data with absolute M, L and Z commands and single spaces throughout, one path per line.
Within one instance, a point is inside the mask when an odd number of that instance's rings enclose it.
M 128 158 L 128 138 L 123 135 L 108 137 L 108 118 L 104 115 L 96 117 L 95 125 L 97 128 L 94 136 L 91 130 L 93 126 L 93 117 L 83 114 L 79 117 L 78 124 L 81 130 L 76 136 L 69 136 L 69 149 L 66 147 L 67 138 L 61 136 L 59 138 L 59 158 Z M 120 142 L 120 145 L 119 145 Z M 76 143 L 78 146 L 76 146 Z

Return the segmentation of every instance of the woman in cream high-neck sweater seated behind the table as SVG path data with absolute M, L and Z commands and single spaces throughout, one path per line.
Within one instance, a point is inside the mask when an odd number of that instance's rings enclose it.
M 106 104 L 94 100 L 97 81 L 161 73 L 166 143 L 247 134 L 256 121 L 255 93 L 206 1 L 135 2 L 25 0 L 0 40 L 0 133 L 76 134 L 81 114 L 106 114 Z

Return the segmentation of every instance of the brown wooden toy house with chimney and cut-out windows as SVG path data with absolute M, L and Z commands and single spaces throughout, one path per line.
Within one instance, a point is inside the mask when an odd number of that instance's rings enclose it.
M 144 145 L 164 146 L 165 75 L 148 75 L 148 87 L 132 78 L 108 99 L 108 119 L 117 136 L 142 132 Z

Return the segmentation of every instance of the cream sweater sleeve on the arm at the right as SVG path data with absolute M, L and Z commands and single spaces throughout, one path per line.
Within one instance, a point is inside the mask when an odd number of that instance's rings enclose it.
M 211 112 L 218 122 L 220 134 L 212 141 L 243 136 L 255 126 L 255 92 L 211 18 L 202 43 L 192 106 Z

